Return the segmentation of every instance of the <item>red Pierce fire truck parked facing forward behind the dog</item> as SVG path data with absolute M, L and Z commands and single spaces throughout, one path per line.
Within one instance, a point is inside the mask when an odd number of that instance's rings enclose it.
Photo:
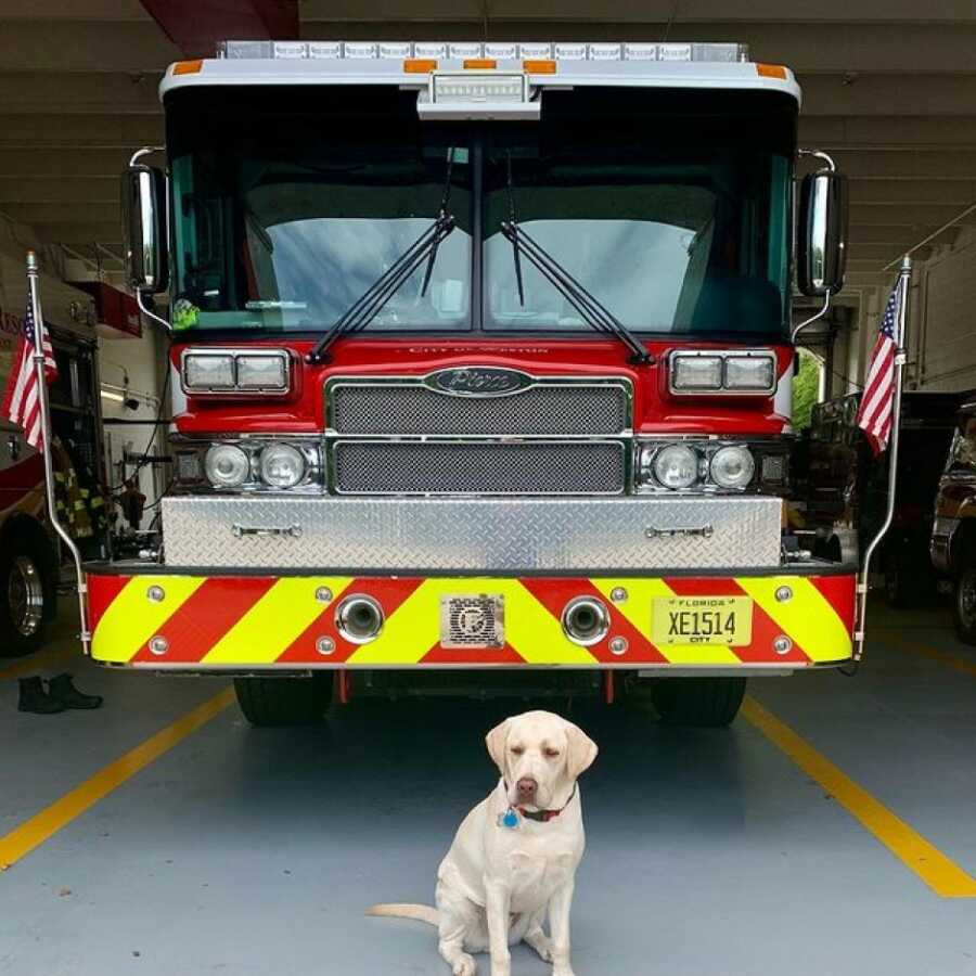
M 123 196 L 172 485 L 86 567 L 94 659 L 233 676 L 257 724 L 505 681 L 723 724 L 851 662 L 856 567 L 784 530 L 794 269 L 844 264 L 786 67 L 246 41 L 160 92 Z

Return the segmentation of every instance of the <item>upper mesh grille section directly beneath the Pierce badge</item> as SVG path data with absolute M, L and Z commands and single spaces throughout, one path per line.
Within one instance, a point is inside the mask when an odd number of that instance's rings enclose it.
M 620 381 L 543 381 L 498 397 L 449 396 L 421 381 L 339 381 L 331 385 L 328 416 L 345 435 L 605 437 L 630 427 L 630 396 Z

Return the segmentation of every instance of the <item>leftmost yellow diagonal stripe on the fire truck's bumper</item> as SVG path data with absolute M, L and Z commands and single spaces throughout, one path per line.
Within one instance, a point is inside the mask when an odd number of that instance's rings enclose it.
M 112 601 L 95 627 L 92 657 L 113 663 L 128 662 L 193 593 L 203 586 L 202 576 L 133 576 Z M 166 598 L 153 603 L 150 587 L 162 587 Z

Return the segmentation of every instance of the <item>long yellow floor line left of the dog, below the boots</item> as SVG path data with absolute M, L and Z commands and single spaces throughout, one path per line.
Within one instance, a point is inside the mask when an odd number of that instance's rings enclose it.
M 201 725 L 223 711 L 234 699 L 234 691 L 227 688 L 203 705 L 162 729 L 134 749 L 120 756 L 70 793 L 55 800 L 46 810 L 0 837 L 0 869 L 5 870 L 43 844 L 76 817 L 94 806 L 126 780 L 136 775 L 159 756 L 169 752 Z

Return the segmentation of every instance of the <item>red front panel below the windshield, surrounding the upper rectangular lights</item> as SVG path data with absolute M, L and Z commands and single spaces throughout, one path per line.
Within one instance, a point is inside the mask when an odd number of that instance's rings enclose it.
M 242 341 L 194 335 L 172 346 L 174 425 L 187 436 L 201 434 L 312 434 L 325 429 L 325 384 L 337 377 L 425 376 L 460 367 L 517 370 L 530 376 L 624 378 L 633 390 L 633 429 L 639 434 L 775 435 L 789 429 L 794 350 L 787 345 L 744 345 L 720 342 L 647 342 L 655 361 L 629 362 L 629 351 L 616 341 L 560 338 L 488 339 L 370 336 L 345 338 L 330 350 L 326 363 L 306 357 L 313 338 L 264 336 Z M 292 357 L 292 388 L 285 396 L 188 395 L 180 378 L 185 349 L 285 349 Z M 676 396 L 668 390 L 668 358 L 677 349 L 769 350 L 778 361 L 773 396 L 714 394 Z

